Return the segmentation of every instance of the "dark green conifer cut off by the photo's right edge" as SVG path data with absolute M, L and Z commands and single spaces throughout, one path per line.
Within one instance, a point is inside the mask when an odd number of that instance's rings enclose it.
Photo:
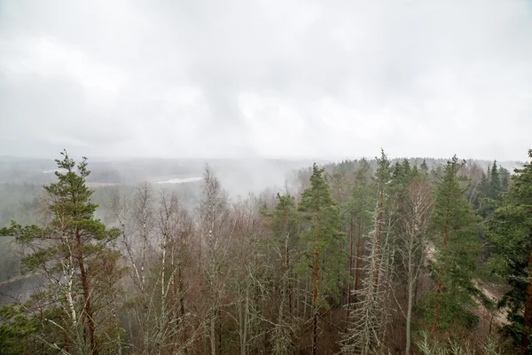
M 532 159 L 532 149 L 528 151 Z M 512 287 L 499 304 L 509 307 L 506 333 L 520 342 L 521 354 L 532 351 L 532 162 L 514 170 L 503 206 L 489 220 L 494 243 L 492 263 Z

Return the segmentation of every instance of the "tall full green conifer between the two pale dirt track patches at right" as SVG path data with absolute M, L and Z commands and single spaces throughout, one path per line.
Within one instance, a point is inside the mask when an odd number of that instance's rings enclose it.
M 442 166 L 435 186 L 431 225 L 436 288 L 427 295 L 432 330 L 457 319 L 471 325 L 475 319 L 470 311 L 475 306 L 473 295 L 478 292 L 472 278 L 480 243 L 473 207 L 465 198 L 464 178 L 458 175 L 462 165 L 455 155 Z

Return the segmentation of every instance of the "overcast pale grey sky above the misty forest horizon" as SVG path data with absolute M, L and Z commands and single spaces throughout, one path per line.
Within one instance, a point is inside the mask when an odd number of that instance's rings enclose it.
M 532 2 L 0 0 L 0 155 L 519 160 Z

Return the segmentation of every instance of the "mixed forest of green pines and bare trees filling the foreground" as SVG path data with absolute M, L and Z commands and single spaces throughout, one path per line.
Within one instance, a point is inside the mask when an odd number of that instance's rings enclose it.
M 0 303 L 0 354 L 532 353 L 523 159 L 381 151 L 237 197 L 208 164 L 92 188 L 65 151 L 50 183 L 0 185 L 20 202 L 0 246 L 34 285 Z

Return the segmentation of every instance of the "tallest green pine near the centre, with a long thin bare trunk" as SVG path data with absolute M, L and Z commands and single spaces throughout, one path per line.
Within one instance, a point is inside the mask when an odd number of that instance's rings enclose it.
M 308 243 L 303 264 L 312 265 L 313 297 L 312 310 L 314 330 L 312 353 L 317 353 L 317 325 L 319 305 L 326 296 L 340 297 L 339 286 L 347 277 L 344 269 L 345 250 L 340 245 L 345 242 L 345 234 L 338 231 L 340 214 L 332 201 L 329 185 L 323 178 L 324 169 L 315 163 L 310 177 L 310 187 L 301 195 L 298 210 L 305 212 L 309 220 L 303 238 Z

